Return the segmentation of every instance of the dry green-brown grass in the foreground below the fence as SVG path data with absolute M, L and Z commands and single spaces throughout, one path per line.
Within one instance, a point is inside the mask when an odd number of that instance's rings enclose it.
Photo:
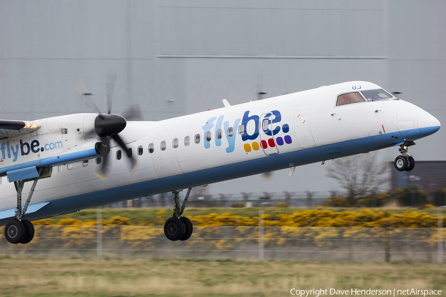
M 446 265 L 429 263 L 3 258 L 0 266 L 1 297 L 269 297 L 289 296 L 292 288 L 446 292 Z

